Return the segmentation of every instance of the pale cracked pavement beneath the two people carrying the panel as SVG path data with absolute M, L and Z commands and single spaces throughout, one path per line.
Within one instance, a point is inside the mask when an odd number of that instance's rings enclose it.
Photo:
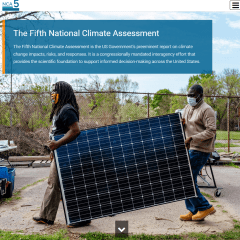
M 114 233 L 115 221 L 127 220 L 130 233 L 145 234 L 180 234 L 183 232 L 216 233 L 233 228 L 232 219 L 240 220 L 240 169 L 232 167 L 213 166 L 213 171 L 219 187 L 223 187 L 222 195 L 216 198 L 217 202 L 211 202 L 217 209 L 214 215 L 208 216 L 201 222 L 182 222 L 180 214 L 186 214 L 187 210 L 184 201 L 160 205 L 156 207 L 141 209 L 138 211 L 118 214 L 114 217 L 95 219 L 92 224 L 83 228 L 71 229 L 72 233 L 105 232 Z M 48 176 L 49 168 L 16 168 L 15 191 L 27 184 L 36 182 Z M 47 226 L 37 224 L 32 220 L 38 216 L 42 198 L 47 187 L 47 181 L 39 182 L 29 186 L 21 192 L 21 199 L 9 204 L 0 205 L 0 229 L 22 230 L 25 234 L 41 233 L 49 234 L 59 229 L 66 228 L 62 204 L 55 224 Z M 204 192 L 213 195 L 214 189 L 204 189 Z M 210 201 L 210 199 L 208 199 Z M 221 205 L 221 206 L 220 206 Z M 226 210 L 227 212 L 223 211 Z M 155 218 L 159 220 L 156 220 Z

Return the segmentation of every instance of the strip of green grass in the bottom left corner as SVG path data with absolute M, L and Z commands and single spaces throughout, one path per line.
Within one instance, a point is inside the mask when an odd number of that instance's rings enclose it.
M 13 233 L 11 231 L 2 231 L 0 230 L 0 239 L 1 240 L 67 240 L 69 237 L 67 237 L 68 231 L 67 230 L 59 230 L 58 232 L 52 234 L 52 235 L 40 235 L 40 234 L 31 234 L 31 235 L 24 235 L 24 234 L 18 234 Z

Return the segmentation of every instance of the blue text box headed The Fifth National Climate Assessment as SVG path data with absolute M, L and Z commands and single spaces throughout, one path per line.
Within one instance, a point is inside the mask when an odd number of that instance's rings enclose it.
M 6 21 L 5 73 L 211 72 L 211 20 Z

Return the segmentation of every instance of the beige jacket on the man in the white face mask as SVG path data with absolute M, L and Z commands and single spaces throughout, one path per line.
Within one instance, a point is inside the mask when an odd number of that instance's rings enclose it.
M 186 105 L 183 112 L 186 137 L 192 137 L 191 150 L 213 152 L 216 135 L 216 118 L 214 110 L 203 100 L 195 107 Z

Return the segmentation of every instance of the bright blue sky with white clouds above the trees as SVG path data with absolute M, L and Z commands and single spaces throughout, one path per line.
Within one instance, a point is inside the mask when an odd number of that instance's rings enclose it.
M 51 13 L 61 19 L 57 12 Z M 225 68 L 240 69 L 240 11 L 239 12 L 62 12 L 65 20 L 212 20 L 213 71 L 221 74 Z M 50 74 L 59 81 L 86 78 L 87 74 Z M 119 74 L 98 74 L 102 83 Z M 179 93 L 188 84 L 190 74 L 128 74 L 138 82 L 138 92 L 155 93 L 169 89 Z

